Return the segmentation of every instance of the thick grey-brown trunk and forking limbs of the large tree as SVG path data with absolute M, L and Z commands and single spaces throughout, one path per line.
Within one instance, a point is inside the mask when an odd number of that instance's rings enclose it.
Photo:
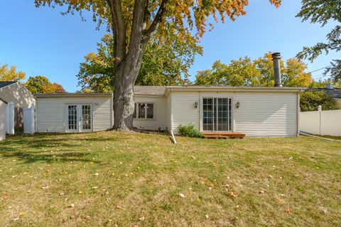
M 151 33 L 161 22 L 166 3 L 163 0 L 158 12 L 147 29 L 148 0 L 135 0 L 129 46 L 120 0 L 107 0 L 112 14 L 114 35 L 114 126 L 113 130 L 129 131 L 134 128 L 134 84 L 139 74 L 142 56 Z

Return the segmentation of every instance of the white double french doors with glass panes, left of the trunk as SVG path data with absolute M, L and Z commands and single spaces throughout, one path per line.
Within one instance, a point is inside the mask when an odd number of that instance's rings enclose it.
M 68 104 L 65 108 L 67 132 L 92 132 L 92 105 Z

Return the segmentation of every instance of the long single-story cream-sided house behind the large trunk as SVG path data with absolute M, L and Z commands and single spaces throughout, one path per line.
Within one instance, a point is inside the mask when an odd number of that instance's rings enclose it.
M 134 126 L 178 132 L 241 132 L 296 137 L 300 88 L 134 86 Z M 96 132 L 113 125 L 112 94 L 36 95 L 38 132 Z

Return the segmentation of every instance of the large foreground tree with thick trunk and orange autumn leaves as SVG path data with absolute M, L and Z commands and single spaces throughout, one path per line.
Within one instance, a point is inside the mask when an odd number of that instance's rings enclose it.
M 269 0 L 279 6 L 281 0 Z M 248 0 L 35 0 L 36 6 L 67 6 L 66 13 L 87 10 L 93 19 L 107 23 L 114 37 L 114 129 L 133 128 L 133 87 L 141 68 L 146 46 L 155 34 L 158 39 L 173 34 L 198 41 L 207 19 L 234 20 L 246 14 Z M 82 15 L 82 14 L 81 14 Z M 196 33 L 193 36 L 193 33 Z

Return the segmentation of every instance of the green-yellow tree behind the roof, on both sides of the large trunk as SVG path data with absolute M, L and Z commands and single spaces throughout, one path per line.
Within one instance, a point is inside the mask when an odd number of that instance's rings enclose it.
M 148 43 L 135 85 L 178 85 L 183 83 L 182 76 L 188 76 L 195 54 L 202 53 L 201 46 L 183 41 L 178 36 L 168 36 L 167 40 L 152 38 Z M 88 92 L 92 90 L 97 93 L 114 90 L 112 43 L 112 35 L 103 36 L 102 42 L 97 43 L 97 53 L 87 54 L 85 63 L 80 63 L 77 78 L 82 90 L 87 88 Z

